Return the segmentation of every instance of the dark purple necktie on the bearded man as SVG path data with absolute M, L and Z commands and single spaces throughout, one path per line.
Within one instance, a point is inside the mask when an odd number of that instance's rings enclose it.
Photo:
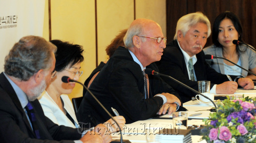
M 28 117 L 29 117 L 29 120 L 32 124 L 32 127 L 33 127 L 33 130 L 34 130 L 34 133 L 36 135 L 36 138 L 40 138 L 40 134 L 39 134 L 39 129 L 38 129 L 38 126 L 37 126 L 37 123 L 36 123 L 36 117 L 35 117 L 35 111 L 34 111 L 34 108 L 33 106 L 31 105 L 31 103 L 29 102 L 27 104 L 27 106 L 25 107 L 27 113 L 28 113 Z

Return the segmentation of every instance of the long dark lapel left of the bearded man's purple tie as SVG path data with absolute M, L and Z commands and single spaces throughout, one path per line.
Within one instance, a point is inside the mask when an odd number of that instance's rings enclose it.
M 3 87 L 3 89 L 5 89 L 5 91 L 7 92 L 7 94 L 10 96 L 10 98 L 12 99 L 13 103 L 15 104 L 15 106 L 17 107 L 17 109 L 19 110 L 20 114 L 23 117 L 23 120 L 27 126 L 27 128 L 29 128 L 30 132 L 35 136 L 30 123 L 28 121 L 28 118 L 26 116 L 26 113 L 22 107 L 22 105 L 20 104 L 18 97 L 14 91 L 14 89 L 12 88 L 12 85 L 10 84 L 10 82 L 8 81 L 8 79 L 5 77 L 4 73 L 2 72 L 0 74 L 0 85 Z

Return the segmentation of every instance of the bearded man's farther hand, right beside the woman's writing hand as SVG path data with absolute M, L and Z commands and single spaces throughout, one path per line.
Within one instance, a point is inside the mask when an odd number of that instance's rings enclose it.
M 105 125 L 98 124 L 96 127 L 94 127 L 94 132 L 102 137 L 103 143 L 108 143 L 112 141 L 111 133 L 106 130 Z

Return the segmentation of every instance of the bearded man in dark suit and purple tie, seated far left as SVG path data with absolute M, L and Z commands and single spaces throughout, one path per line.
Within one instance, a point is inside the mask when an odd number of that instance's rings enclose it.
M 37 36 L 14 44 L 0 74 L 1 142 L 110 142 L 103 125 L 82 137 L 78 129 L 58 126 L 45 117 L 37 97 L 56 73 L 56 46 Z M 101 135 L 99 135 L 101 134 Z M 79 140 L 80 139 L 80 140 Z

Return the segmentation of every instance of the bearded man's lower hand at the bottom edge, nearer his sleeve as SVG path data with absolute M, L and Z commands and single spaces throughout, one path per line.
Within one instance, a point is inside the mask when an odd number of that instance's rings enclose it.
M 83 143 L 103 143 L 102 137 L 95 133 L 94 131 L 88 131 L 80 140 Z

